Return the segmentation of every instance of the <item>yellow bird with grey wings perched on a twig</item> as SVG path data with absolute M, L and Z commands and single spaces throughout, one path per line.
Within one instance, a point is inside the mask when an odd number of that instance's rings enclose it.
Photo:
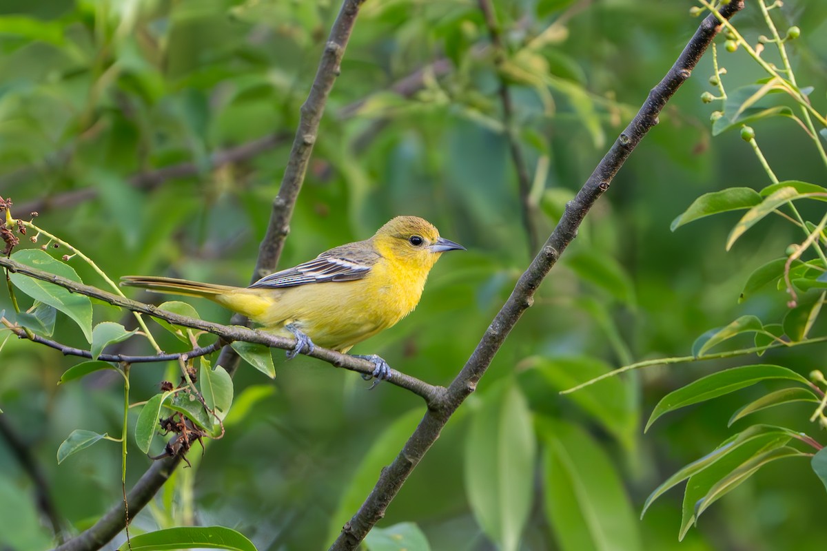
M 369 240 L 341 245 L 294 268 L 271 273 L 250 287 L 186 279 L 126 276 L 122 285 L 205 297 L 236 311 L 275 335 L 296 338 L 289 359 L 314 345 L 347 353 L 354 344 L 395 325 L 414 310 L 428 272 L 442 253 L 465 247 L 439 236 L 430 222 L 396 216 Z M 376 354 L 358 356 L 390 378 Z

